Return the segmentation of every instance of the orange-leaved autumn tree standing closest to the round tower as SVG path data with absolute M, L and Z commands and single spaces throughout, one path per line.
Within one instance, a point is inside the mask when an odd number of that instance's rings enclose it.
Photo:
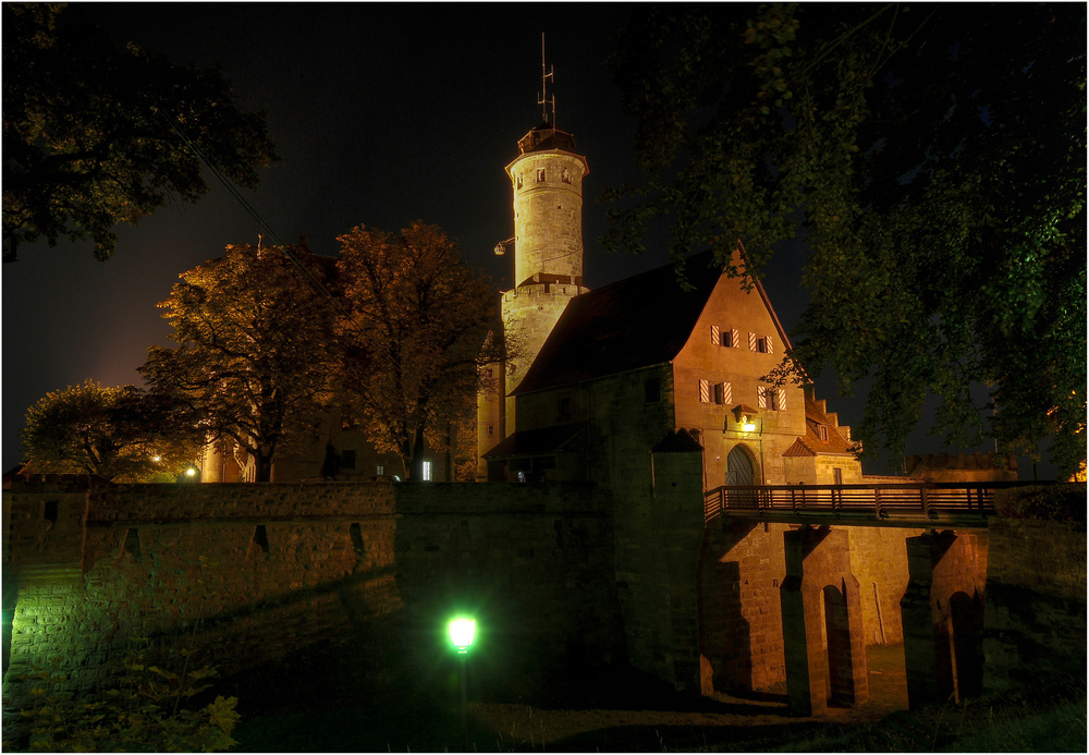
M 423 221 L 396 234 L 359 226 L 339 241 L 345 388 L 376 448 L 419 479 L 425 443 L 450 447 L 452 424 L 476 400 L 477 367 L 492 358 L 481 346 L 491 287 Z

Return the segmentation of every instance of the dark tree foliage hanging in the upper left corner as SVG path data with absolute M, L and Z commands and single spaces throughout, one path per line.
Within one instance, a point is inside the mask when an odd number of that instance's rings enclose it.
M 63 5 L 3 5 L 3 258 L 22 243 L 90 239 L 117 246 L 169 197 L 208 191 L 188 139 L 235 183 L 253 188 L 276 159 L 264 113 L 234 101 L 219 70 L 117 49 Z M 174 126 L 181 129 L 185 139 Z

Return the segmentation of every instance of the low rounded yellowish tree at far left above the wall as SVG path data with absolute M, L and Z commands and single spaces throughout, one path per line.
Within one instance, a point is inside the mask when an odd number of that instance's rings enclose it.
M 22 431 L 27 471 L 97 475 L 118 483 L 172 478 L 199 439 L 169 399 L 135 386 L 86 380 L 42 397 Z

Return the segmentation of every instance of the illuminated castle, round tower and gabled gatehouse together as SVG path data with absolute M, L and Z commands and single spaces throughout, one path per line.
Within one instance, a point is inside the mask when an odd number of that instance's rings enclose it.
M 611 486 L 657 445 L 681 442 L 702 449 L 706 488 L 861 482 L 851 428 L 802 388 L 762 381 L 790 340 L 758 280 L 746 290 L 705 252 L 689 259 L 690 290 L 666 266 L 589 291 L 589 166 L 574 137 L 535 126 L 506 173 L 512 353 L 478 399 L 478 480 Z

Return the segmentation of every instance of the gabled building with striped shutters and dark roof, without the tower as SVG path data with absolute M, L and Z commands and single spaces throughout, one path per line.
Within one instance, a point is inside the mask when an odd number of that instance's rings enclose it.
M 488 479 L 611 484 L 683 431 L 705 488 L 817 483 L 825 468 L 859 482 L 822 402 L 762 380 L 790 343 L 763 287 L 711 265 L 688 260 L 687 290 L 665 266 L 574 297 L 512 391 L 517 425 L 485 454 Z

